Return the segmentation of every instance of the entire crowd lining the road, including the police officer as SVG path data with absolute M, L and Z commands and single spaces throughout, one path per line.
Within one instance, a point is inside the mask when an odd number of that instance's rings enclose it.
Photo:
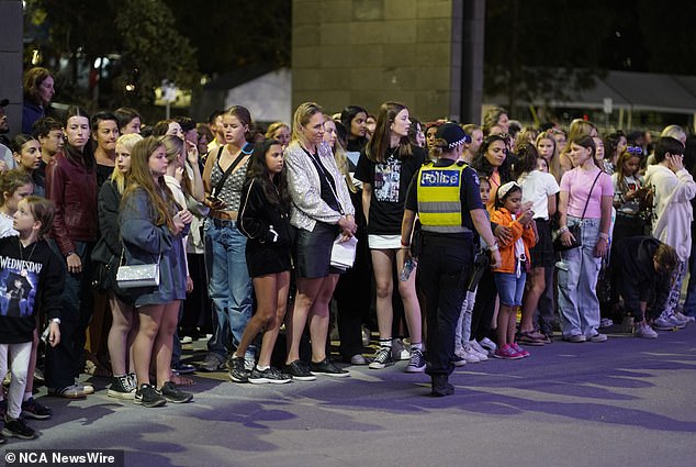
M 153 408 L 191 401 L 197 370 L 347 377 L 336 327 L 344 363 L 407 360 L 448 396 L 454 367 L 529 357 L 523 345 L 694 321 L 696 281 L 680 293 L 696 267 L 696 146 L 680 126 L 653 143 L 586 120 L 521 127 L 502 108 L 482 125 L 426 124 L 391 101 L 375 115 L 305 102 L 291 124 L 233 105 L 148 125 L 128 108 L 50 116 L 44 68 L 24 87 L 22 133 L 0 145 L 5 436 L 33 438 L 25 420 L 52 416 L 33 398 L 37 367 L 49 396 L 93 393 L 89 371 Z M 333 258 L 341 245 L 349 268 Z M 127 285 L 131 266 L 150 266 L 149 281 Z M 202 362 L 182 360 L 206 329 Z

